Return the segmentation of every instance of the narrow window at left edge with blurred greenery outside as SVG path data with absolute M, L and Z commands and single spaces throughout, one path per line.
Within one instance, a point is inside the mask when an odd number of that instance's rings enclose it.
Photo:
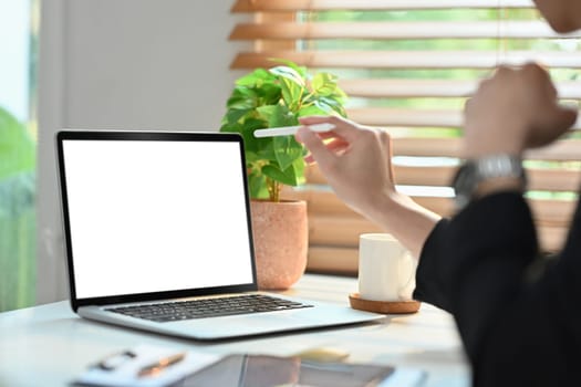
M 0 312 L 35 299 L 38 8 L 0 2 Z

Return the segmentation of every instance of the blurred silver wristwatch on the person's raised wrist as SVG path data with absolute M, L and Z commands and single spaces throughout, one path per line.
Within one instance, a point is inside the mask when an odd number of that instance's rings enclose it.
M 522 190 L 525 190 L 527 177 L 521 158 L 500 154 L 467 160 L 458 169 L 453 182 L 456 191 L 456 209 L 463 209 L 475 198 L 478 186 L 483 181 L 498 178 L 518 179 L 521 182 Z

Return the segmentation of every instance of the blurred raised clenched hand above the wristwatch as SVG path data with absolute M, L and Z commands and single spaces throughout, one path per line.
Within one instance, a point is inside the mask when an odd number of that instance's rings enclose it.
M 575 119 L 577 111 L 558 104 L 549 74 L 539 65 L 501 66 L 466 104 L 464 155 L 521 155 L 552 143 Z

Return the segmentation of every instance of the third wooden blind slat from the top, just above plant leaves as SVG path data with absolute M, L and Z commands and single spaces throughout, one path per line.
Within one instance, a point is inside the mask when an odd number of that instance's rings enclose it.
M 287 51 L 241 52 L 232 61 L 231 69 L 271 67 L 273 57 L 317 67 L 356 69 L 483 69 L 499 64 L 522 65 L 540 62 L 554 69 L 581 69 L 581 55 L 577 52 L 542 51 Z

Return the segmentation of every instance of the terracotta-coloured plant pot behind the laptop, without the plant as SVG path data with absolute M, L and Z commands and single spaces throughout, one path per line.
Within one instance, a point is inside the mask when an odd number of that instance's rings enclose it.
M 307 202 L 252 200 L 251 210 L 258 287 L 289 289 L 307 268 Z

